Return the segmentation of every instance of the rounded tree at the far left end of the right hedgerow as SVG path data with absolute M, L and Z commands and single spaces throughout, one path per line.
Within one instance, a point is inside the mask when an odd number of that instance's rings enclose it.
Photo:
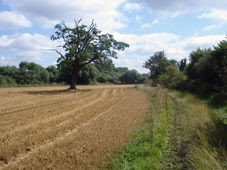
M 170 65 L 163 51 L 155 52 L 144 64 L 144 67 L 150 70 L 150 78 L 157 80 L 158 76 L 166 72 Z

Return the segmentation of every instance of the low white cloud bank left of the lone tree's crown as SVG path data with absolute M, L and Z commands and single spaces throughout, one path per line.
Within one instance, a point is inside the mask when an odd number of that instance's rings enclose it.
M 48 65 L 49 60 L 56 60 L 54 51 L 57 42 L 41 34 L 12 34 L 0 36 L 1 65 L 18 65 L 21 61 L 43 62 Z M 7 54 L 7 56 L 4 56 Z

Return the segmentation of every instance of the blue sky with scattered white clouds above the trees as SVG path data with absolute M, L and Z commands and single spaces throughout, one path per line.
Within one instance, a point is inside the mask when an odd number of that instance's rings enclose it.
M 168 59 L 189 57 L 226 40 L 226 0 L 0 0 L 0 66 L 21 61 L 55 65 L 61 42 L 51 41 L 54 26 L 94 19 L 102 33 L 130 45 L 118 52 L 116 67 L 148 70 L 143 63 L 156 51 Z M 62 49 L 62 52 L 64 50 Z

